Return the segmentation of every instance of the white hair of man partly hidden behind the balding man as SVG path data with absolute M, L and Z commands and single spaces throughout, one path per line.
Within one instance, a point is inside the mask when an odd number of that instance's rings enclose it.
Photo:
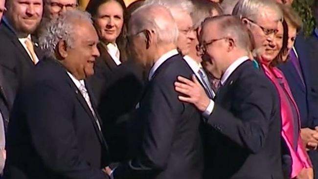
M 145 0 L 144 4 L 159 4 L 170 10 L 173 18 L 180 11 L 185 11 L 188 14 L 193 12 L 193 4 L 190 0 Z

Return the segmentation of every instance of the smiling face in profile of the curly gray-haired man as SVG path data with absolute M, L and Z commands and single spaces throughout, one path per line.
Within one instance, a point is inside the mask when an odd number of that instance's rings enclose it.
M 61 63 L 76 79 L 82 80 L 94 74 L 95 58 L 99 56 L 98 36 L 90 22 L 74 23 L 76 23 L 74 26 L 76 31 L 72 36 L 74 43 L 61 54 L 64 58 Z

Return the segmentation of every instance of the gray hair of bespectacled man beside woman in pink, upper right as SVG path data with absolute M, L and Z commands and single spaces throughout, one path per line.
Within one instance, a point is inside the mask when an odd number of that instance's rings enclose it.
M 246 17 L 255 20 L 255 17 L 258 17 L 266 8 L 276 12 L 274 14 L 275 21 L 283 19 L 282 10 L 274 0 L 239 0 L 233 9 L 232 15 L 240 19 Z

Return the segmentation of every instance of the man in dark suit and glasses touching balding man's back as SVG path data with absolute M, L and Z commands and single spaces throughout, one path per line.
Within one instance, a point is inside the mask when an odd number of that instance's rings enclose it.
M 249 60 L 246 27 L 233 16 L 205 20 L 204 65 L 221 80 L 214 101 L 196 80 L 179 77 L 180 96 L 204 112 L 206 179 L 282 179 L 278 95 Z

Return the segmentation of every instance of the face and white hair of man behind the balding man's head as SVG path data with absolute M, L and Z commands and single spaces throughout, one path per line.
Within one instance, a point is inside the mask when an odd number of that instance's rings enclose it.
M 193 4 L 190 0 L 146 0 L 145 4 L 160 4 L 168 8 L 179 29 L 177 47 L 182 56 L 187 55 L 191 42 L 195 38 L 191 12 Z

